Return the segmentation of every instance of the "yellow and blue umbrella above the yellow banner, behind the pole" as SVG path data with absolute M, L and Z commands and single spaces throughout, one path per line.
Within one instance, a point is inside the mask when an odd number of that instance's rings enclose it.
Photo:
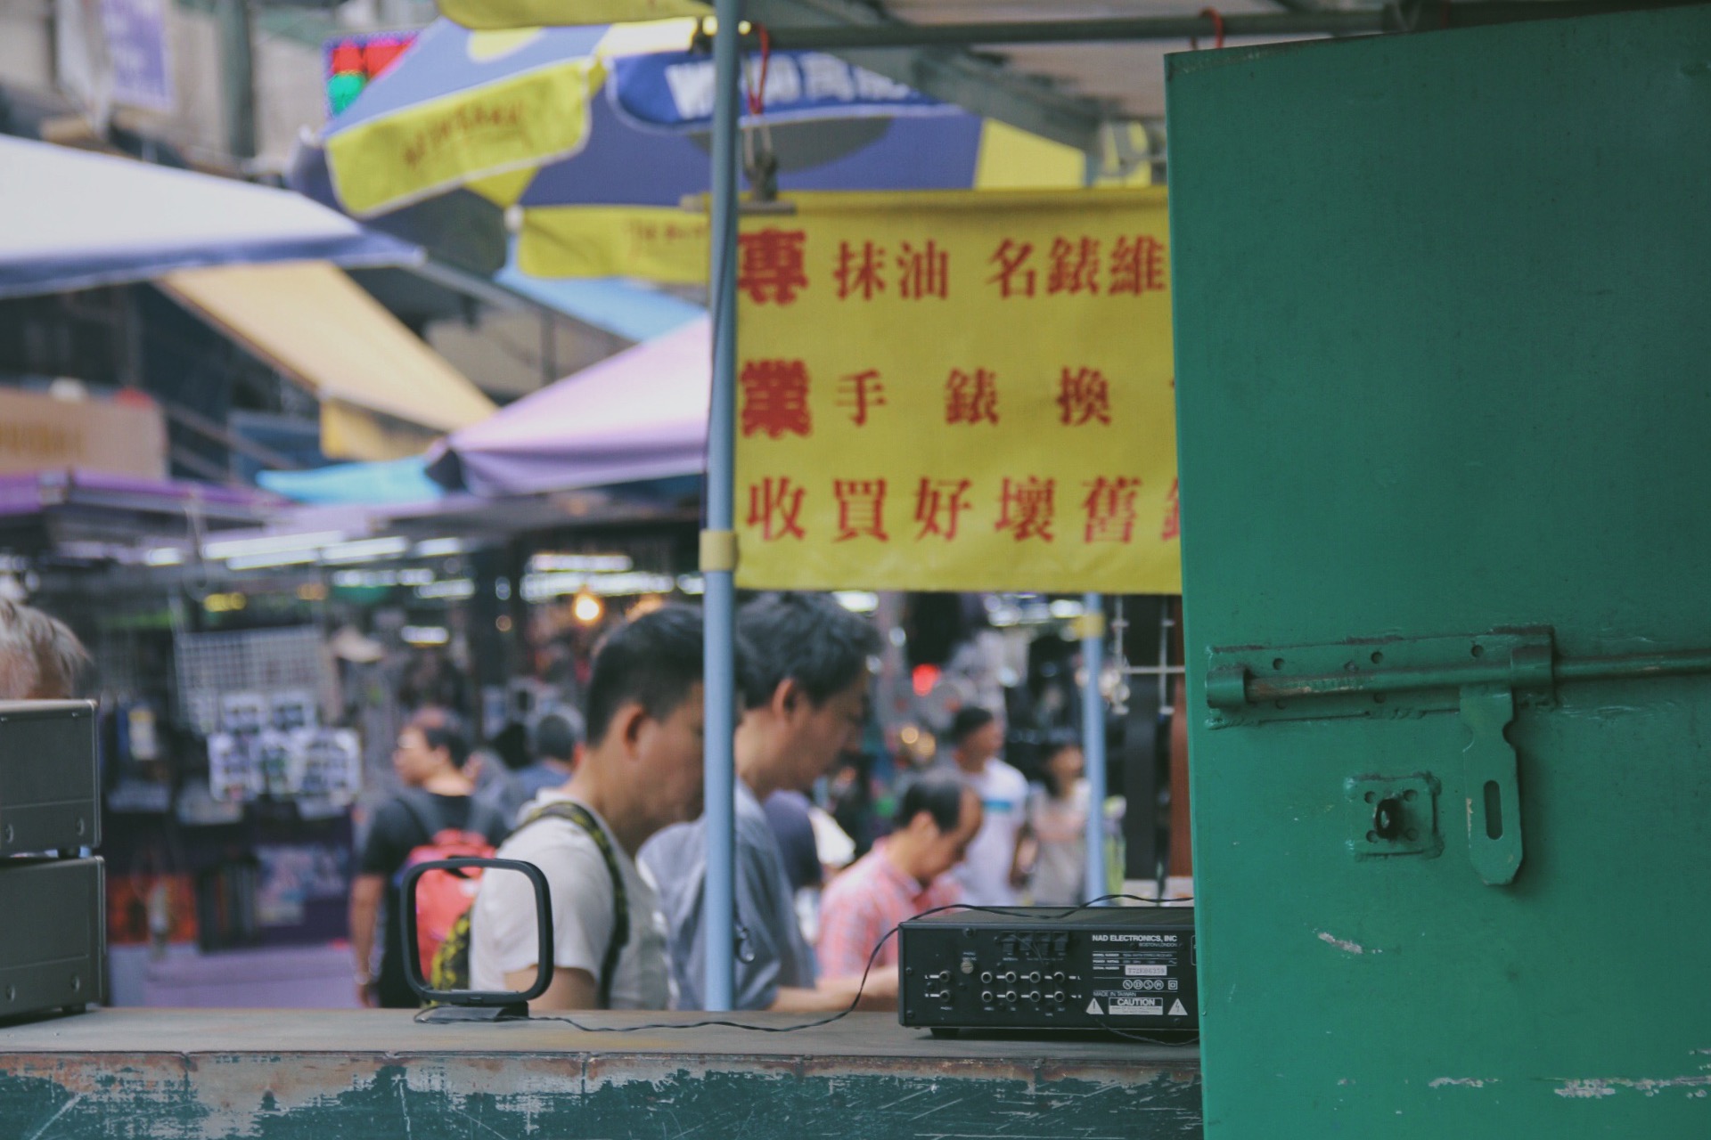
M 712 60 L 693 21 L 467 31 L 438 21 L 329 123 L 337 203 L 359 217 L 469 188 L 515 207 L 534 277 L 707 280 Z M 777 186 L 1071 188 L 1071 147 L 936 103 L 818 51 L 748 62 Z M 310 179 L 294 179 L 308 188 Z

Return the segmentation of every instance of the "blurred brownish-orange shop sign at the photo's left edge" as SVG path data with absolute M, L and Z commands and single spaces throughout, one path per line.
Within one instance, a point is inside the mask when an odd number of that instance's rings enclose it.
M 0 473 L 80 468 L 166 479 L 166 422 L 145 400 L 60 400 L 0 388 Z

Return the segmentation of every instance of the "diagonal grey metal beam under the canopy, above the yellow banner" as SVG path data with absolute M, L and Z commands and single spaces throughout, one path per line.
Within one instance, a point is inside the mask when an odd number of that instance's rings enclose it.
M 820 51 L 835 51 L 859 67 L 909 84 L 915 91 L 955 103 L 975 115 L 1061 142 L 1088 154 L 1098 154 L 1100 126 L 1112 118 L 1110 106 L 1085 96 L 1059 91 L 1052 82 L 1018 73 L 1003 60 L 980 58 L 963 51 L 967 39 L 924 44 L 909 36 L 927 31 L 893 21 L 861 0 L 748 0 L 746 17 L 765 24 L 773 46 L 804 46 L 809 36 L 837 38 L 867 32 L 900 43 L 876 44 L 883 51 L 862 51 L 869 44 L 813 43 Z M 790 43 L 785 43 L 787 39 Z M 799 43 L 802 41 L 802 43 Z

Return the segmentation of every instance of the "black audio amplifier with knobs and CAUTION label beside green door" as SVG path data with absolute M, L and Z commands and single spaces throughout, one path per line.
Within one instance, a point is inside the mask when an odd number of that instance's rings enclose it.
M 897 937 L 905 1025 L 1150 1034 L 1199 1024 L 1191 908 L 944 911 Z

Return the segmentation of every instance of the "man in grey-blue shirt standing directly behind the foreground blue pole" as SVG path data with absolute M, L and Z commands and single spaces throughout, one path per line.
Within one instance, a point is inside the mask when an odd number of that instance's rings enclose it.
M 854 743 L 867 718 L 867 661 L 879 651 L 879 639 L 832 598 L 806 593 L 749 602 L 737 612 L 737 636 L 753 668 L 734 738 L 734 1002 L 739 1010 L 844 1008 L 856 998 L 861 978 L 816 981 L 814 955 L 797 925 L 784 856 L 761 802 L 780 788 L 806 791 Z M 705 1008 L 707 822 L 662 832 L 642 858 L 660 884 L 671 925 L 678 1007 Z M 878 971 L 867 981 L 864 1003 L 883 1008 L 895 1002 L 897 971 Z

